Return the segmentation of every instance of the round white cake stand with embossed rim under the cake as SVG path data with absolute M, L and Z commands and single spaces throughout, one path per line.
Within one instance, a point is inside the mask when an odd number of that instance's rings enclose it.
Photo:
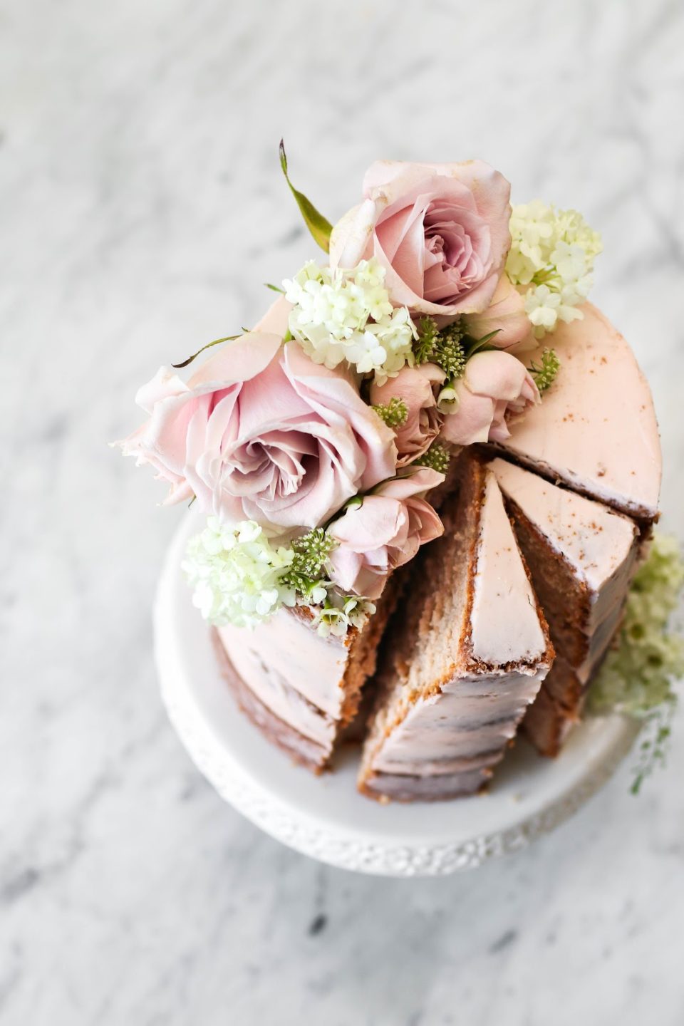
M 506 756 L 487 794 L 460 800 L 380 805 L 359 795 L 358 753 L 315 777 L 292 764 L 240 712 L 216 664 L 209 631 L 193 607 L 180 561 L 189 514 L 168 550 L 155 603 L 161 692 L 180 741 L 226 801 L 273 837 L 322 862 L 387 876 L 452 873 L 524 847 L 553 830 L 611 776 L 638 726 L 613 715 L 572 732 L 558 759 L 523 740 Z

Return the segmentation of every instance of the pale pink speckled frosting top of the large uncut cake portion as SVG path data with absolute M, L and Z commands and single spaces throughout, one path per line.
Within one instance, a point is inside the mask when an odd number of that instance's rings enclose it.
M 590 303 L 550 345 L 560 372 L 544 401 L 499 443 L 551 480 L 648 524 L 657 518 L 661 457 L 650 389 L 625 339 Z

